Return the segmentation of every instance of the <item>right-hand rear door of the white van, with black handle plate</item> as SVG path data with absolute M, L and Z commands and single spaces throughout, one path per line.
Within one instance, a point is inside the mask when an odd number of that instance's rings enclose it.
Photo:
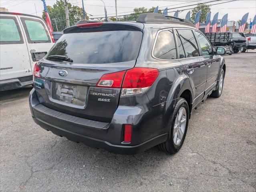
M 37 17 L 18 16 L 28 46 L 31 68 L 43 58 L 54 43 L 44 21 Z

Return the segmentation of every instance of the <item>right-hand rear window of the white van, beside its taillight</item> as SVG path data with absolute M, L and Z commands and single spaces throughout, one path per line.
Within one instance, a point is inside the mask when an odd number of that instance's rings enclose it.
M 30 18 L 22 18 L 28 43 L 51 42 L 48 32 L 42 21 Z

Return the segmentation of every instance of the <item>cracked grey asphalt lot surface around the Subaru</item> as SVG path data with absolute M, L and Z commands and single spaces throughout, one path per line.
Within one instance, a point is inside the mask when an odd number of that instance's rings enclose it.
M 181 150 L 133 156 L 75 143 L 36 125 L 32 87 L 0 92 L 0 191 L 256 191 L 256 52 L 224 56 L 220 98 L 192 114 Z

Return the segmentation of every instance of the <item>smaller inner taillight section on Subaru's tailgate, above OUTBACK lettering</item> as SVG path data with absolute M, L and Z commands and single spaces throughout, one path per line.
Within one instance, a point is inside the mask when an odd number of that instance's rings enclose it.
M 121 88 L 125 72 L 119 71 L 103 75 L 98 81 L 97 87 Z

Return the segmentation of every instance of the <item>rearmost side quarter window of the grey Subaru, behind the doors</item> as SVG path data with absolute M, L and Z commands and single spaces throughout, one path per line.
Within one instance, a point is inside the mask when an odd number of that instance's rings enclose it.
M 176 46 L 172 30 L 165 30 L 158 34 L 154 56 L 159 59 L 177 59 Z

